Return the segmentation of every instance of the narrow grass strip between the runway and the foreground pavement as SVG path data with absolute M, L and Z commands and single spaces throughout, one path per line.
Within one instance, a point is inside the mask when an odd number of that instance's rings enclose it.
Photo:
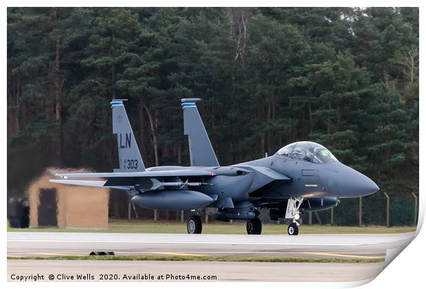
M 377 263 L 385 258 L 339 259 L 339 258 L 293 258 L 261 256 L 155 256 L 155 255 L 61 255 L 52 257 L 8 257 L 9 260 L 113 260 L 113 261 L 229 261 L 229 262 L 281 262 L 281 263 Z

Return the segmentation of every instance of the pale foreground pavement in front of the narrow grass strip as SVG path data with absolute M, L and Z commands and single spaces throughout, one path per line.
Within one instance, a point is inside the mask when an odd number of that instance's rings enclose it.
M 370 264 L 313 264 L 313 263 L 267 263 L 267 262 L 211 262 L 211 261 L 63 261 L 63 260 L 8 260 L 8 281 L 29 274 L 43 276 L 49 281 L 77 280 L 77 275 L 90 274 L 100 280 L 100 275 L 111 274 L 113 280 L 139 277 L 131 281 L 146 281 L 140 277 L 152 275 L 153 281 L 191 281 L 188 279 L 166 279 L 166 275 L 199 276 L 198 281 L 361 281 L 371 279 L 383 269 L 383 263 Z M 13 276 L 12 276 L 13 275 Z M 158 280 L 158 276 L 164 276 Z M 74 280 L 66 280 L 74 276 Z M 216 276 L 216 279 L 203 279 Z M 62 279 L 62 280 L 58 280 Z M 109 276 L 108 276 L 109 277 Z M 115 279 L 117 278 L 117 279 Z M 42 281 L 43 281 L 42 280 Z

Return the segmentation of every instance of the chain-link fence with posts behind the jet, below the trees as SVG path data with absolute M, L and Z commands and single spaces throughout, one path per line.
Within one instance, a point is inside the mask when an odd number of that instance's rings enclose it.
M 121 196 L 124 196 L 121 194 Z M 124 199 L 122 199 L 123 201 Z M 110 216 L 151 221 L 186 222 L 191 211 L 159 211 L 134 206 L 129 199 L 111 204 Z M 116 200 L 114 202 L 117 202 Z M 113 208 L 113 211 L 111 211 Z M 269 219 L 268 210 L 260 210 L 262 222 Z M 418 193 L 375 193 L 368 197 L 340 199 L 339 205 L 326 211 L 304 213 L 302 224 L 333 224 L 337 226 L 416 226 Z M 212 215 L 204 215 L 204 222 L 214 222 Z

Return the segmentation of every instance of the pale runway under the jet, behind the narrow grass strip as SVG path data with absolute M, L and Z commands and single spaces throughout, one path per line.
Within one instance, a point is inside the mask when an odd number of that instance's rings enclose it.
M 189 235 L 142 233 L 8 232 L 8 256 L 256 255 L 267 257 L 379 258 L 410 243 L 415 233 L 386 235 Z

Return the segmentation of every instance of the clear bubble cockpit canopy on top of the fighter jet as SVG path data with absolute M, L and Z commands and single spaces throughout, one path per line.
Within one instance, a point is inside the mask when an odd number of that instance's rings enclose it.
M 292 158 L 293 160 L 314 162 L 315 164 L 338 162 L 333 153 L 330 153 L 328 149 L 315 142 L 293 142 L 280 149 L 278 155 Z

